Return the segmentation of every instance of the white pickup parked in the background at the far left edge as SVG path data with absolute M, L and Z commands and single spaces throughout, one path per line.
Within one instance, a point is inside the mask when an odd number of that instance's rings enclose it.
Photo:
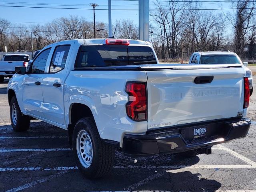
M 4 82 L 5 77 L 12 77 L 15 73 L 15 67 L 28 66 L 31 60 L 27 54 L 6 54 L 0 61 L 0 82 Z

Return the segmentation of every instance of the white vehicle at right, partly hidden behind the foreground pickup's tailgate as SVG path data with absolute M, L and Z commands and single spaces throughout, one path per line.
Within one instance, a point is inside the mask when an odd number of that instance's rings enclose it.
M 189 64 L 243 64 L 246 72 L 246 77 L 249 80 L 250 96 L 253 92 L 253 78 L 252 72 L 247 67 L 248 62 L 242 62 L 239 56 L 230 51 L 197 51 L 194 52 L 190 59 Z

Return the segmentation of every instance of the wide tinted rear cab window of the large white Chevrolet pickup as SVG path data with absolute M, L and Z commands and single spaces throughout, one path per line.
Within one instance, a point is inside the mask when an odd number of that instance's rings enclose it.
M 146 46 L 82 46 L 75 67 L 106 67 L 157 64 L 152 48 Z

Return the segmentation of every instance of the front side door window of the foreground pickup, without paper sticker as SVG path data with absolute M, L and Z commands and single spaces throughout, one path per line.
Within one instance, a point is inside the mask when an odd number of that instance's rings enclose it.
M 42 51 L 32 63 L 31 73 L 44 73 L 51 48 Z

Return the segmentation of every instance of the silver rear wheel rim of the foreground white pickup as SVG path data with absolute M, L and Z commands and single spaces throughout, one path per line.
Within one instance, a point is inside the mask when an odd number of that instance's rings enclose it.
M 85 168 L 92 164 L 92 140 L 86 130 L 80 130 L 76 137 L 76 152 L 80 163 Z

